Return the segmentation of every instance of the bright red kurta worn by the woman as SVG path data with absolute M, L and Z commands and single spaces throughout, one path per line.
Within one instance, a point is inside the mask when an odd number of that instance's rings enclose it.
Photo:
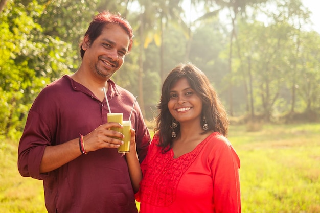
M 240 160 L 224 136 L 214 132 L 176 159 L 156 144 L 157 136 L 141 164 L 140 213 L 241 212 Z

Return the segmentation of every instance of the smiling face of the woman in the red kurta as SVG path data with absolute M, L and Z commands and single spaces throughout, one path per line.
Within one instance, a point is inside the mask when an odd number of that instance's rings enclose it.
M 201 120 L 202 100 L 186 78 L 179 79 L 169 91 L 168 109 L 180 124 Z

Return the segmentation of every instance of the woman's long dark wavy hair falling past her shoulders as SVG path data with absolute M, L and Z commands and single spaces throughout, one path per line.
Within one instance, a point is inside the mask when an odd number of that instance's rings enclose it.
M 168 109 L 170 99 L 170 89 L 181 78 L 186 78 L 190 87 L 195 90 L 197 95 L 202 100 L 201 117 L 205 116 L 208 123 L 208 129 L 203 130 L 202 134 L 208 131 L 219 132 L 227 137 L 229 120 L 225 108 L 220 102 L 218 94 L 210 84 L 209 79 L 204 73 L 191 63 L 179 64 L 171 70 L 162 86 L 162 94 L 160 102 L 157 105 L 159 114 L 155 117 L 155 133 L 159 137 L 159 146 L 163 152 L 167 152 L 172 147 L 172 115 Z M 201 123 L 203 121 L 201 119 Z M 175 128 L 177 137 L 180 135 L 180 126 Z

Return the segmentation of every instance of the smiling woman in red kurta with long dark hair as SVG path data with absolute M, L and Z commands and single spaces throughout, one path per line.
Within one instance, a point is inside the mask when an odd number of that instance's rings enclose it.
M 158 109 L 142 174 L 136 153 L 126 154 L 140 213 L 241 212 L 240 160 L 226 139 L 227 115 L 208 78 L 180 64 L 163 84 Z M 135 150 L 134 131 L 131 142 Z

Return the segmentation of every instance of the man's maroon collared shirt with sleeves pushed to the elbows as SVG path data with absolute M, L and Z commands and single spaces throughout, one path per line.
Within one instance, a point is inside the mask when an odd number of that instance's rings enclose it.
M 123 120 L 128 120 L 134 96 L 113 81 L 108 82 L 111 112 L 122 112 Z M 99 101 L 90 90 L 67 75 L 45 87 L 34 101 L 20 139 L 18 169 L 22 176 L 43 180 L 49 213 L 137 212 L 127 163 L 117 149 L 89 152 L 52 172 L 39 173 L 46 146 L 92 132 L 107 122 L 107 113 L 105 99 Z M 138 104 L 131 121 L 142 161 L 150 135 Z

